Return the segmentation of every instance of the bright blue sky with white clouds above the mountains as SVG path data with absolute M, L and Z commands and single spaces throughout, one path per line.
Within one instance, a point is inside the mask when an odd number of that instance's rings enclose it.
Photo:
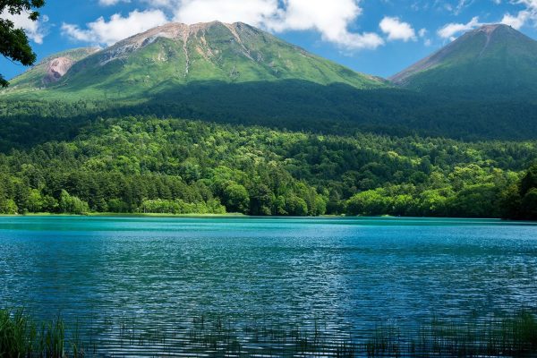
M 8 15 L 38 59 L 107 47 L 170 21 L 243 21 L 355 71 L 388 77 L 467 30 L 506 23 L 537 38 L 537 0 L 47 0 L 39 21 Z M 0 72 L 25 71 L 0 57 Z

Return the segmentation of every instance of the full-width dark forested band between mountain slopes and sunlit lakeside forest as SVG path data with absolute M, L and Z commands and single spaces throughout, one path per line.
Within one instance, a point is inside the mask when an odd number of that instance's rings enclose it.
M 147 98 L 0 103 L 0 150 L 67 141 L 91 130 L 99 117 L 151 115 L 219 124 L 261 125 L 290 131 L 468 141 L 537 137 L 537 106 L 511 100 L 430 98 L 410 90 L 356 90 L 309 81 L 168 83 Z

